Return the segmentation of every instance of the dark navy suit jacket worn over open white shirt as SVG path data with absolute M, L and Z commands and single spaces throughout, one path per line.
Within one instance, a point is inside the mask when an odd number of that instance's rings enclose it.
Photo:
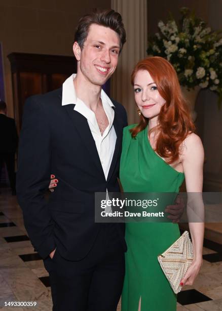
M 58 247 L 67 260 L 90 251 L 102 225 L 94 222 L 94 193 L 119 192 L 120 155 L 126 111 L 113 101 L 117 141 L 105 179 L 87 119 L 61 105 L 62 88 L 28 98 L 19 144 L 17 197 L 30 240 L 42 258 Z M 45 199 L 50 174 L 59 182 Z M 124 250 L 124 225 L 115 224 Z

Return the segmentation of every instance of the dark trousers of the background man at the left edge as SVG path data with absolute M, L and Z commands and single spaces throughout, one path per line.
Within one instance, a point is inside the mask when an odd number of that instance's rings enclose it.
M 0 152 L 0 179 L 4 162 L 6 163 L 10 186 L 15 191 L 15 152 Z

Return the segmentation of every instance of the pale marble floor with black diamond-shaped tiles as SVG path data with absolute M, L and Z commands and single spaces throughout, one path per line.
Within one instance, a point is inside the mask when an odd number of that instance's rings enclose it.
M 205 239 L 203 258 L 194 286 L 186 286 L 178 294 L 178 311 L 222 310 L 222 245 Z M 5 305 L 15 301 L 37 304 Z M 120 305 L 121 302 L 118 311 Z M 52 309 L 48 273 L 29 241 L 16 197 L 11 196 L 8 189 L 1 189 L 0 194 L 0 308 L 6 311 Z

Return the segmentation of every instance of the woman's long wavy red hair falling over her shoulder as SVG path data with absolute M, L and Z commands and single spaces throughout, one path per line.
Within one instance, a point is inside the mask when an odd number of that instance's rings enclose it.
M 183 140 L 189 133 L 195 131 L 190 110 L 182 97 L 177 74 L 169 61 L 159 56 L 140 60 L 131 75 L 132 85 L 139 70 L 150 73 L 161 97 L 166 101 L 158 115 L 158 125 L 149 132 L 149 135 L 157 131 L 155 151 L 171 164 L 178 160 Z M 141 114 L 138 125 L 130 130 L 132 137 L 135 138 L 144 130 L 148 122 L 149 119 Z

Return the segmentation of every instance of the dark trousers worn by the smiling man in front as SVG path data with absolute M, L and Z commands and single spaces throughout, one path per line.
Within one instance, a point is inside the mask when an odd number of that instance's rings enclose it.
M 125 274 L 116 224 L 102 224 L 89 254 L 67 261 L 56 250 L 44 260 L 50 275 L 53 311 L 116 311 Z

